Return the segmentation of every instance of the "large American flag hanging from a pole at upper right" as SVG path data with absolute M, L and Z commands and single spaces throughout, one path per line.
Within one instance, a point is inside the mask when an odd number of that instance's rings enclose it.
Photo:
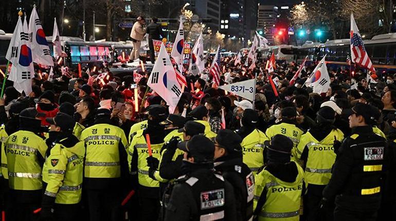
M 359 33 L 359 29 L 356 26 L 353 14 L 351 14 L 351 61 L 356 65 L 363 68 L 369 69 L 375 73 L 375 69 L 371 60 L 366 52 L 362 36 Z

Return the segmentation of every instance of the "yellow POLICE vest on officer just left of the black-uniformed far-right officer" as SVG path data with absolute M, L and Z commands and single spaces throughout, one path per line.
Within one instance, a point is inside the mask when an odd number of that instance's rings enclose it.
M 331 168 L 335 162 L 334 137 L 344 139 L 339 129 L 332 130 L 320 142 L 308 131 L 303 134 L 297 146 L 297 157 L 300 158 L 305 146 L 308 147 L 308 158 L 305 164 L 305 184 L 327 185 L 331 178 Z

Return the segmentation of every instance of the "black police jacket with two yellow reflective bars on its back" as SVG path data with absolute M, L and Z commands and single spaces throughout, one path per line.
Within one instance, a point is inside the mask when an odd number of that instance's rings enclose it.
M 334 197 L 337 206 L 352 211 L 376 211 L 380 208 L 381 192 L 362 195 L 363 189 L 382 186 L 387 168 L 387 142 L 376 135 L 371 126 L 352 129 L 352 135 L 345 138 L 338 149 L 329 184 L 323 190 L 323 197 Z M 379 171 L 364 171 L 364 166 L 382 165 Z M 382 189 L 381 189 L 382 191 Z

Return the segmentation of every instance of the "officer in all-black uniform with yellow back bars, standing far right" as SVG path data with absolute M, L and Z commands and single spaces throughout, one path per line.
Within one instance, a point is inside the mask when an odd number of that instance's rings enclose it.
M 387 142 L 372 130 L 374 111 L 378 110 L 357 103 L 349 116 L 352 135 L 338 149 L 330 182 L 322 192 L 322 204 L 335 197 L 334 220 L 376 220 Z

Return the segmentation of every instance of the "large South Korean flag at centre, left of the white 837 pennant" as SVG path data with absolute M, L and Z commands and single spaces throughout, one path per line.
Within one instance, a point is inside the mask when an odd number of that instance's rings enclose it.
M 147 85 L 166 101 L 169 105 L 169 112 L 173 113 L 182 95 L 182 89 L 177 82 L 175 70 L 164 44 L 161 44 L 157 61 L 151 71 Z

